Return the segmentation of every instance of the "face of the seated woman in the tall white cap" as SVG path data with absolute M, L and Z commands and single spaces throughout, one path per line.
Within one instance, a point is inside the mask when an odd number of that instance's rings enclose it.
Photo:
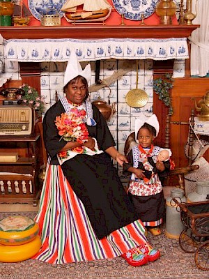
M 86 86 L 81 80 L 76 80 L 75 83 L 68 84 L 65 93 L 66 98 L 70 100 L 70 102 L 79 104 L 83 102 L 86 96 Z

